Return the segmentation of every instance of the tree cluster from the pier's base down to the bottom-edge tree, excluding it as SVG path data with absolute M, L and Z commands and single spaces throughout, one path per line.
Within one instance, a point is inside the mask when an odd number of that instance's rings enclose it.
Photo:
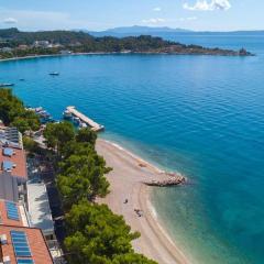
M 57 187 L 65 209 L 86 198 L 92 201 L 109 190 L 106 174 L 111 170 L 95 150 L 97 135 L 89 129 L 75 132 L 69 122 L 47 124 L 44 136 L 47 146 L 57 154 Z

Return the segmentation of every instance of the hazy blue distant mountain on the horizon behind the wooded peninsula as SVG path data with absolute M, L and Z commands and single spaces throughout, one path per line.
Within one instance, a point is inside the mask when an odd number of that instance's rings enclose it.
M 133 25 L 133 26 L 121 26 L 121 28 L 114 28 L 109 29 L 106 31 L 87 31 L 87 30 L 80 30 L 82 32 L 89 33 L 94 36 L 139 36 L 139 35 L 160 35 L 163 33 L 187 33 L 191 32 L 189 30 L 184 29 L 170 29 L 167 26 L 162 28 L 153 28 L 153 26 L 141 26 L 141 25 Z

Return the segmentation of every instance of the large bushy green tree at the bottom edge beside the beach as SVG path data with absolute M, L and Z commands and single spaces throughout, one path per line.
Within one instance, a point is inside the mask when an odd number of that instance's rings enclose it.
M 131 232 L 123 217 L 112 213 L 106 205 L 80 201 L 66 216 L 68 237 L 65 246 L 69 263 L 74 264 L 154 264 L 134 253 L 131 241 L 139 238 Z

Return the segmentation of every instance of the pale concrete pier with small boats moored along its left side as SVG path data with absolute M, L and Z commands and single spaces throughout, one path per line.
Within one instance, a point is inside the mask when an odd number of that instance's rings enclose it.
M 95 122 L 92 119 L 79 112 L 76 107 L 73 106 L 66 108 L 64 111 L 64 119 L 72 120 L 79 128 L 90 128 L 95 132 L 105 130 L 103 125 Z

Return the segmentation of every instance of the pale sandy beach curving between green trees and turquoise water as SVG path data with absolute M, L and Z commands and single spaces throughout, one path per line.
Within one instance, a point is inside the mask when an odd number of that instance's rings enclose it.
M 141 233 L 141 238 L 133 241 L 134 250 L 160 264 L 190 263 L 157 221 L 150 200 L 153 187 L 144 185 L 144 182 L 164 179 L 164 173 L 111 142 L 99 139 L 96 147 L 113 168 L 107 176 L 111 193 L 99 202 L 122 215 L 132 230 Z M 124 204 L 125 199 L 128 204 Z M 134 209 L 142 210 L 143 216 L 139 217 Z

